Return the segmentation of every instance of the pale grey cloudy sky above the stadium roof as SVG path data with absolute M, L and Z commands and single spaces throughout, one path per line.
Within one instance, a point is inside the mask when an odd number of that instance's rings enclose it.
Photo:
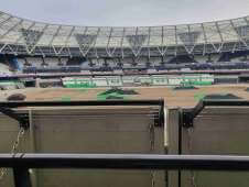
M 150 26 L 249 15 L 249 0 L 6 0 L 0 11 L 52 23 Z

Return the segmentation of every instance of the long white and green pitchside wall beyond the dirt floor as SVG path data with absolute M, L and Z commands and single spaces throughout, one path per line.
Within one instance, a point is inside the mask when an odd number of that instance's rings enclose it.
M 93 78 L 63 78 L 67 88 L 80 87 L 121 87 L 121 86 L 207 86 L 215 81 L 212 75 L 193 76 L 101 76 Z

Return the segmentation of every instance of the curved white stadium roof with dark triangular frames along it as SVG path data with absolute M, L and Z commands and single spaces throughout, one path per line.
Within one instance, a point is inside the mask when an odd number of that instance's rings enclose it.
M 248 50 L 248 41 L 249 16 L 196 24 L 97 28 L 42 23 L 0 12 L 0 53 L 96 57 L 145 53 L 150 57 Z

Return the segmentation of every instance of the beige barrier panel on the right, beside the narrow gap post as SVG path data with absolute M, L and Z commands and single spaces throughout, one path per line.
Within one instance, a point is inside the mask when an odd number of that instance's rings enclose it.
M 193 109 L 167 109 L 166 116 L 165 146 L 169 154 L 217 157 L 249 154 L 249 102 L 246 100 L 203 100 Z M 171 187 L 246 187 L 249 173 L 194 169 L 169 172 L 167 176 Z

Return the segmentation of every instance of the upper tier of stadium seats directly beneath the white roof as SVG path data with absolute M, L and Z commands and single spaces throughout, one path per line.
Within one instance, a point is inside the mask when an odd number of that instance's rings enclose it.
M 209 62 L 208 62 L 209 61 Z M 124 57 L 121 61 L 116 58 L 91 58 L 84 57 L 17 57 L 1 55 L 1 73 L 11 74 L 53 74 L 53 73 L 80 73 L 90 70 L 96 73 L 109 73 L 122 70 L 124 74 L 153 74 L 163 70 L 220 70 L 220 69 L 249 69 L 247 54 L 241 52 L 221 53 L 210 55 L 185 55 L 185 56 L 153 56 L 149 61 L 147 57 Z M 17 67 L 18 66 L 18 67 Z

